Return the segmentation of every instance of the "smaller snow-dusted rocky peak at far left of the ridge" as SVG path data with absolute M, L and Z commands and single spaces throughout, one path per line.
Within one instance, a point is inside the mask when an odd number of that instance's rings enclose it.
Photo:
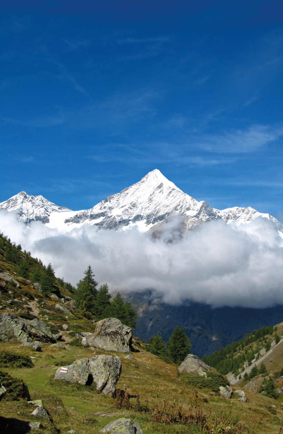
M 70 211 L 69 208 L 59 207 L 48 201 L 45 197 L 32 196 L 21 191 L 0 204 L 0 210 L 17 211 L 19 220 L 29 224 L 30 221 L 41 221 L 49 223 L 49 216 L 52 212 L 60 213 Z

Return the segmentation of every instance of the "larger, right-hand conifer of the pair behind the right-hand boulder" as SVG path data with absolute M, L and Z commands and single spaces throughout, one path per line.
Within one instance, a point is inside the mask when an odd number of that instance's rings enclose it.
M 183 327 L 176 327 L 171 335 L 171 338 L 166 344 L 169 357 L 176 365 L 181 365 L 184 358 L 188 355 L 191 348 L 191 343 L 188 336 L 185 334 Z

